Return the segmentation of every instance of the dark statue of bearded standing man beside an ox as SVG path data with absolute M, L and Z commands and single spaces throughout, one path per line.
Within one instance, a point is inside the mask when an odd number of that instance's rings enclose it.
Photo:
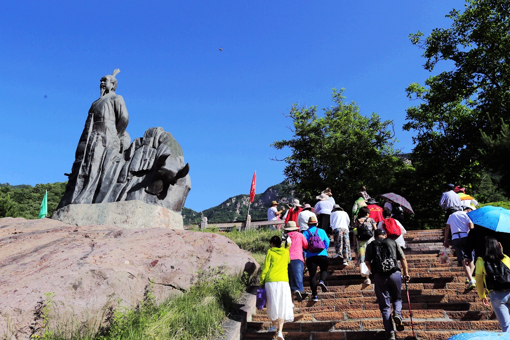
M 101 97 L 90 107 L 58 208 L 140 200 L 180 213 L 191 189 L 182 148 L 161 127 L 147 129 L 130 145 L 129 115 L 115 93 L 118 72 L 101 78 Z

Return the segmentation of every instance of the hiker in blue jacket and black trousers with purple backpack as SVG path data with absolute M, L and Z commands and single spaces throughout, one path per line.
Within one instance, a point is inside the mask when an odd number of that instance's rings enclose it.
M 329 247 L 329 238 L 324 229 L 317 227 L 317 218 L 312 216 L 308 220 L 308 230 L 303 231 L 303 236 L 307 239 L 307 268 L 310 275 L 310 289 L 312 290 L 312 301 L 319 301 L 317 295 L 317 267 L 320 270 L 319 286 L 322 293 L 327 292 L 325 280 L 327 277 L 327 248 Z

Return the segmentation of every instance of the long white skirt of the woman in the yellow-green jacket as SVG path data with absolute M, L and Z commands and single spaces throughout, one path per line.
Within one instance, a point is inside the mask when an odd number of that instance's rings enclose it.
M 284 319 L 285 322 L 294 321 L 292 296 L 289 282 L 266 282 L 266 309 L 271 320 Z

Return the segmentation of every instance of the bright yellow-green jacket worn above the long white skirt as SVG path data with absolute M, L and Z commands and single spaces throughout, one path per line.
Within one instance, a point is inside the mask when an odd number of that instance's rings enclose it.
M 269 249 L 260 274 L 260 285 L 264 285 L 266 282 L 289 282 L 289 264 L 289 249 L 284 247 Z

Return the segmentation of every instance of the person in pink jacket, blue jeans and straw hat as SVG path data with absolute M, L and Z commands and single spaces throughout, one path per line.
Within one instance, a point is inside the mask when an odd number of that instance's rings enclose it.
M 291 239 L 290 264 L 289 264 L 289 284 L 291 292 L 294 292 L 294 297 L 298 302 L 303 300 L 303 268 L 304 258 L 303 249 L 308 249 L 308 241 L 304 238 L 303 234 L 298 230 L 296 222 L 289 221 L 285 226 L 287 236 Z

